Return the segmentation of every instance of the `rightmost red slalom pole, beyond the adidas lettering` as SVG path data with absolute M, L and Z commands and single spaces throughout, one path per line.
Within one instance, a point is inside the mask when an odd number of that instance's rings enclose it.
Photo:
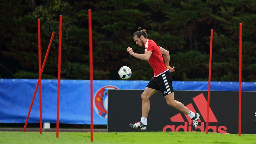
M 242 23 L 239 24 L 239 114 L 238 135 L 241 136 L 241 101 L 242 101 Z

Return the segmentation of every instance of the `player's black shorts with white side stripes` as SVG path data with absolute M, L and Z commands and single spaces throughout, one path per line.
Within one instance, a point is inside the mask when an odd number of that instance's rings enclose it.
M 164 96 L 174 92 L 172 87 L 172 73 L 170 71 L 166 71 L 158 77 L 153 76 L 146 87 L 158 91 L 161 90 Z

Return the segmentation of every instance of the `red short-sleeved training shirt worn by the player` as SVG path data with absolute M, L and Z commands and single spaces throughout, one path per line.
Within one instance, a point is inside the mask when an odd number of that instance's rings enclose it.
M 154 77 L 157 77 L 169 70 L 165 66 L 163 56 L 160 51 L 160 46 L 158 46 L 153 40 L 147 40 L 147 42 L 145 43 L 145 51 L 152 52 L 148 63 L 154 70 Z

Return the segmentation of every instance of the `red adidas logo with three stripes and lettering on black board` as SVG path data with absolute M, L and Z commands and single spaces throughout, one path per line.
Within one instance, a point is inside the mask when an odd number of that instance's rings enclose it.
M 207 101 L 204 97 L 204 95 L 201 93 L 198 96 L 193 98 L 193 101 L 195 102 L 199 112 L 200 112 L 200 119 L 207 119 Z M 193 111 L 196 112 L 195 108 L 193 107 L 192 103 L 186 105 L 186 107 Z M 191 130 L 191 119 L 188 117 L 186 114 L 184 114 L 186 117 L 186 120 L 183 119 L 182 114 L 178 113 L 175 116 L 171 117 L 172 122 L 184 122 L 184 125 L 179 125 L 175 128 L 175 125 L 166 125 L 163 128 L 163 131 L 165 132 L 168 129 L 171 129 L 171 131 L 192 131 Z M 198 120 L 198 126 L 197 129 L 199 129 L 201 132 L 204 132 L 206 130 L 206 122 L 203 122 L 201 120 Z M 201 123 L 201 125 L 200 125 Z M 209 108 L 209 123 L 218 123 L 218 120 L 216 119 L 213 111 L 211 108 Z M 183 130 L 182 130 L 183 129 Z M 218 133 L 227 133 L 227 127 L 225 126 L 208 126 L 208 131 L 213 131 L 213 132 L 218 132 Z M 197 130 L 198 131 L 198 130 Z

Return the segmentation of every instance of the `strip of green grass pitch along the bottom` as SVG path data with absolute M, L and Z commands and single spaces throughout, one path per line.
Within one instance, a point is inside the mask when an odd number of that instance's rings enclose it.
M 255 134 L 219 134 L 202 132 L 94 132 L 95 144 L 256 144 Z M 0 132 L 0 144 L 89 144 L 90 133 L 61 132 Z

